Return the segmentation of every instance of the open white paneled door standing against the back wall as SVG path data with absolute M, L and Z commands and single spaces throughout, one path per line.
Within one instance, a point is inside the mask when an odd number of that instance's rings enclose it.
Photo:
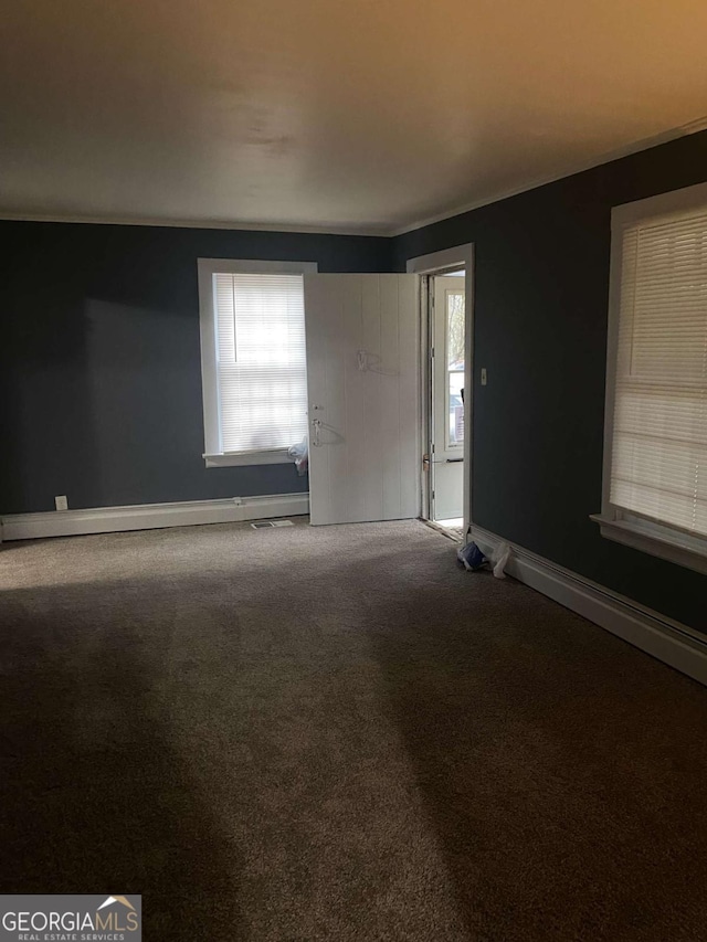
M 304 284 L 312 523 L 418 517 L 418 277 Z

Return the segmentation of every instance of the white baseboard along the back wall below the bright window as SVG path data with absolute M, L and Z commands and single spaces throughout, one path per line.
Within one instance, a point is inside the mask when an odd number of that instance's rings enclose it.
M 271 517 L 298 517 L 308 512 L 308 494 L 268 494 L 262 497 L 186 500 L 178 504 L 135 504 L 128 507 L 13 514 L 0 518 L 0 536 L 1 540 L 6 541 L 36 540 L 43 537 L 154 530 L 192 523 L 236 523 Z

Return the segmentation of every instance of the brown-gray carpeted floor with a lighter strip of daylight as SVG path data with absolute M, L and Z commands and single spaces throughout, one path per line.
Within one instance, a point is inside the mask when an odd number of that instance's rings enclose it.
M 420 523 L 0 551 L 3 892 L 171 942 L 707 939 L 707 690 Z

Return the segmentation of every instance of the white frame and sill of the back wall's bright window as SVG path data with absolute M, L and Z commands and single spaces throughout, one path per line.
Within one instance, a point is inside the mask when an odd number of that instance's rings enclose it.
M 316 262 L 262 261 L 254 258 L 198 258 L 199 330 L 201 342 L 201 395 L 203 405 L 203 459 L 208 468 L 274 465 L 292 462 L 287 448 L 255 452 L 223 452 L 219 421 L 217 371 L 217 314 L 213 276 L 223 275 L 316 275 Z

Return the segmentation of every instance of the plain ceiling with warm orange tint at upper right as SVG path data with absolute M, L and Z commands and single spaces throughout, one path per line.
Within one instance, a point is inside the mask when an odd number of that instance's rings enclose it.
M 700 121 L 706 35 L 704 0 L 15 0 L 0 215 L 400 231 Z

